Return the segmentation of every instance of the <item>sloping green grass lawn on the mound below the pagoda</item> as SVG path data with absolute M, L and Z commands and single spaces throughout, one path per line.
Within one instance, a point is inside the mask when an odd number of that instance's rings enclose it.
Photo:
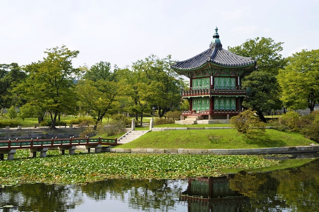
M 236 129 L 187 129 L 151 131 L 144 136 L 116 148 L 188 148 L 236 149 L 307 146 L 315 143 L 301 134 L 267 129 L 258 139 L 248 139 Z

